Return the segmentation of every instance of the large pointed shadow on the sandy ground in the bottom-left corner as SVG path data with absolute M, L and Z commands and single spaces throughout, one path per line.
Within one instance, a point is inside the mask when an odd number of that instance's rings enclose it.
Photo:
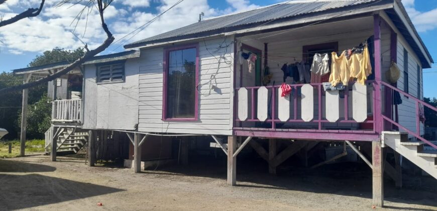
M 124 191 L 40 174 L 0 174 L 0 180 L 0 210 L 30 208 Z

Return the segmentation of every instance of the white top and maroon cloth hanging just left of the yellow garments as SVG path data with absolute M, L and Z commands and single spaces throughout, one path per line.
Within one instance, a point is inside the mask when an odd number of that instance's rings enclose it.
M 329 60 L 328 54 L 314 54 L 310 69 L 311 83 L 321 83 L 329 80 Z

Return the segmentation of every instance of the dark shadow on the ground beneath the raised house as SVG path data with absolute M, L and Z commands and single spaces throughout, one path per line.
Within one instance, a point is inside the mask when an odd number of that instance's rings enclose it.
M 153 171 L 152 168 L 142 173 L 157 177 L 174 176 L 170 178 L 175 180 L 183 180 L 184 175 L 227 179 L 226 159 L 197 158 L 191 160 L 201 160 L 201 162 L 190 163 L 188 166 L 158 166 L 158 171 Z M 316 169 L 282 166 L 278 168 L 277 175 L 267 172 L 268 165 L 264 160 L 237 160 L 237 186 L 372 198 L 372 172 L 363 163 L 329 164 Z M 405 177 L 408 176 L 405 175 Z M 437 180 L 424 177 L 423 181 L 426 183 L 422 183 L 421 187 L 397 189 L 394 187 L 394 182 L 385 176 L 385 200 L 437 207 Z M 390 206 L 387 208 L 415 210 L 414 207 Z

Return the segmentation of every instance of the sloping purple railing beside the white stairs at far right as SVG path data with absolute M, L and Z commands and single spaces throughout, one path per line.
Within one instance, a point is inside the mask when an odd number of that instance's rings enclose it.
M 433 111 L 435 111 L 435 112 L 437 112 L 437 108 L 433 107 L 432 105 L 430 105 L 430 104 L 428 104 L 428 103 L 426 103 L 426 102 L 424 102 L 424 101 L 422 101 L 422 100 L 420 100 L 420 99 L 417 99 L 416 97 L 412 96 L 411 94 L 408 94 L 408 93 L 406 93 L 406 92 L 404 92 L 404 91 L 402 91 L 402 90 L 400 90 L 400 89 L 398 89 L 398 88 L 396 88 L 396 87 L 394 87 L 394 86 L 392 86 L 392 85 L 390 85 L 390 84 L 388 84 L 388 83 L 386 83 L 386 82 L 381 81 L 380 83 L 381 83 L 383 86 L 385 86 L 386 88 L 388 88 L 388 89 L 391 91 L 390 93 L 391 93 L 392 95 L 393 95 L 393 92 L 394 92 L 394 91 L 397 91 L 397 92 L 399 92 L 400 94 L 402 94 L 402 95 L 408 97 L 408 99 L 413 100 L 413 101 L 415 102 L 415 114 L 416 114 L 416 115 L 415 115 L 415 116 L 416 116 L 415 123 L 416 123 L 416 131 L 413 132 L 413 131 L 411 131 L 411 130 L 405 128 L 404 126 L 402 126 L 402 125 L 400 125 L 399 123 L 393 121 L 391 118 L 388 118 L 388 117 L 385 116 L 385 115 L 382 115 L 382 121 L 383 121 L 382 123 L 384 123 L 384 121 L 387 121 L 387 122 L 389 122 L 389 123 L 391 123 L 391 124 L 393 124 L 393 125 L 395 125 L 395 126 L 401 128 L 402 130 L 404 130 L 404 131 L 407 132 L 408 134 L 410 134 L 410 135 L 416 137 L 416 138 L 419 139 L 420 141 L 423 141 L 424 143 L 426 143 L 427 145 L 433 147 L 434 149 L 437 149 L 437 146 L 435 146 L 432 142 L 429 142 L 428 140 L 426 140 L 426 139 L 424 139 L 423 137 L 420 136 L 420 117 L 419 117 L 420 115 L 419 115 L 419 107 L 420 107 L 420 105 L 424 105 L 425 107 L 427 107 L 427 108 L 429 108 L 429 109 L 431 109 L 431 110 L 433 110 Z

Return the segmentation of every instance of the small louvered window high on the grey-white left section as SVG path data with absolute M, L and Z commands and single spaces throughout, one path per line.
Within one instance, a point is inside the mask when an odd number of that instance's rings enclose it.
M 97 83 L 125 81 L 125 63 L 98 65 L 96 81 Z

